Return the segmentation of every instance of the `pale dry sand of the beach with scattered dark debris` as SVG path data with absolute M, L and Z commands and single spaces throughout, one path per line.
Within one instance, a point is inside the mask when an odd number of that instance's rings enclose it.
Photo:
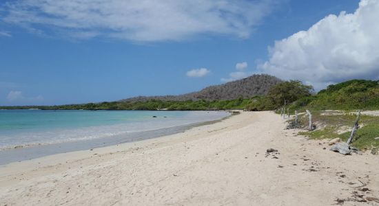
M 10 163 L 0 167 L 0 203 L 379 205 L 378 156 L 339 155 L 283 128 L 272 112 L 243 112 L 158 139 Z

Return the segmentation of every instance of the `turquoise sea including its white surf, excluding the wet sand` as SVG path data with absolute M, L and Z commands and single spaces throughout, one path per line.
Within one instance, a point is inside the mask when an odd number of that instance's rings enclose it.
M 221 119 L 219 111 L 0 111 L 0 150 L 112 138 Z M 154 118 L 153 116 L 156 116 Z

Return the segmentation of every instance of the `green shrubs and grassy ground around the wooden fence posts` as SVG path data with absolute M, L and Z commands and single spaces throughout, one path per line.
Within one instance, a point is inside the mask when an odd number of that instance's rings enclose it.
M 312 111 L 316 130 L 300 132 L 299 135 L 307 135 L 311 139 L 340 138 L 345 142 L 351 135 L 357 110 L 379 109 L 379 81 L 349 80 L 331 84 L 315 95 L 303 95 L 287 108 L 292 114 L 294 111 L 303 113 L 299 115 L 299 122 L 305 127 L 308 125 L 305 110 Z M 376 154 L 379 148 L 379 117 L 361 115 L 359 125 L 351 146 Z

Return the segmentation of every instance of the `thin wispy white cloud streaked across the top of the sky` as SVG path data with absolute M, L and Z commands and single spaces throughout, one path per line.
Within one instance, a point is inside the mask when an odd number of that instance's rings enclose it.
M 34 33 L 73 38 L 177 41 L 199 34 L 247 37 L 275 4 L 274 0 L 14 0 L 3 5 L 2 19 Z

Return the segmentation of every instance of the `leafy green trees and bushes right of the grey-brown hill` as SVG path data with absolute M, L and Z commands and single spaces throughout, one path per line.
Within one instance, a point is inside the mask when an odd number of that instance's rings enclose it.
M 291 80 L 274 85 L 265 96 L 256 98 L 247 109 L 274 110 L 287 106 L 291 111 L 376 110 L 379 109 L 379 80 L 349 80 L 331 84 L 312 95 L 310 85 Z

